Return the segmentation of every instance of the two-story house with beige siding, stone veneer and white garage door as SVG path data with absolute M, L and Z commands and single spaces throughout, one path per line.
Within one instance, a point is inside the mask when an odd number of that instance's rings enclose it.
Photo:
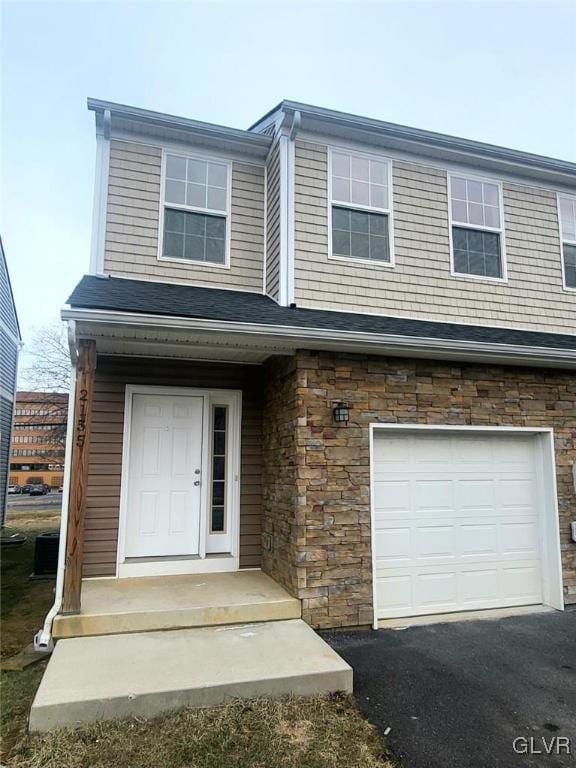
M 261 568 L 314 627 L 576 601 L 576 165 L 89 107 L 64 612 L 80 571 Z

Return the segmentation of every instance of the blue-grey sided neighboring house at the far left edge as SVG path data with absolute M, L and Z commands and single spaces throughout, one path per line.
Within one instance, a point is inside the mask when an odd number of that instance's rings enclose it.
M 6 517 L 12 415 L 21 343 L 14 294 L 0 238 L 0 522 L 2 525 Z

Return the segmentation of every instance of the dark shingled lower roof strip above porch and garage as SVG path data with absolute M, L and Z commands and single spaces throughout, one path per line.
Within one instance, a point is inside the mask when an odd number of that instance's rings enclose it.
M 373 314 L 281 307 L 273 299 L 258 293 L 93 275 L 87 275 L 80 280 L 68 303 L 75 308 L 167 317 L 576 351 L 576 317 L 575 335 L 541 333 Z

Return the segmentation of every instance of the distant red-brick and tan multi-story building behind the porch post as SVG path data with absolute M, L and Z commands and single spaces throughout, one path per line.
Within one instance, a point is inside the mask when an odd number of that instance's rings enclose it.
M 68 395 L 61 392 L 17 392 L 10 484 L 43 483 L 59 488 L 64 476 Z

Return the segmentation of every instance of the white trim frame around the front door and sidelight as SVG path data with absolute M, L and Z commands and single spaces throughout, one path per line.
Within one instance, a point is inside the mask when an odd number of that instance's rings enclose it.
M 135 394 L 151 395 L 189 395 L 203 398 L 203 445 L 202 474 L 206 480 L 202 483 L 202 509 L 200 513 L 199 555 L 193 557 L 170 558 L 126 558 L 126 525 L 128 515 L 128 472 L 130 463 L 130 438 L 132 430 L 132 401 Z M 209 468 L 209 429 L 211 424 L 210 408 L 212 404 L 227 405 L 229 408 L 229 446 L 227 470 L 226 503 L 230 521 L 231 551 L 221 557 L 207 556 L 207 514 L 210 468 Z M 219 570 L 234 571 L 240 567 L 240 440 L 242 418 L 242 393 L 230 389 L 198 389 L 194 387 L 164 387 L 152 385 L 127 384 L 124 404 L 124 428 L 122 439 L 122 470 L 120 480 L 120 509 L 118 522 L 118 543 L 116 550 L 116 576 L 154 576 L 166 574 L 208 573 Z M 221 566 L 221 567 L 219 567 Z

